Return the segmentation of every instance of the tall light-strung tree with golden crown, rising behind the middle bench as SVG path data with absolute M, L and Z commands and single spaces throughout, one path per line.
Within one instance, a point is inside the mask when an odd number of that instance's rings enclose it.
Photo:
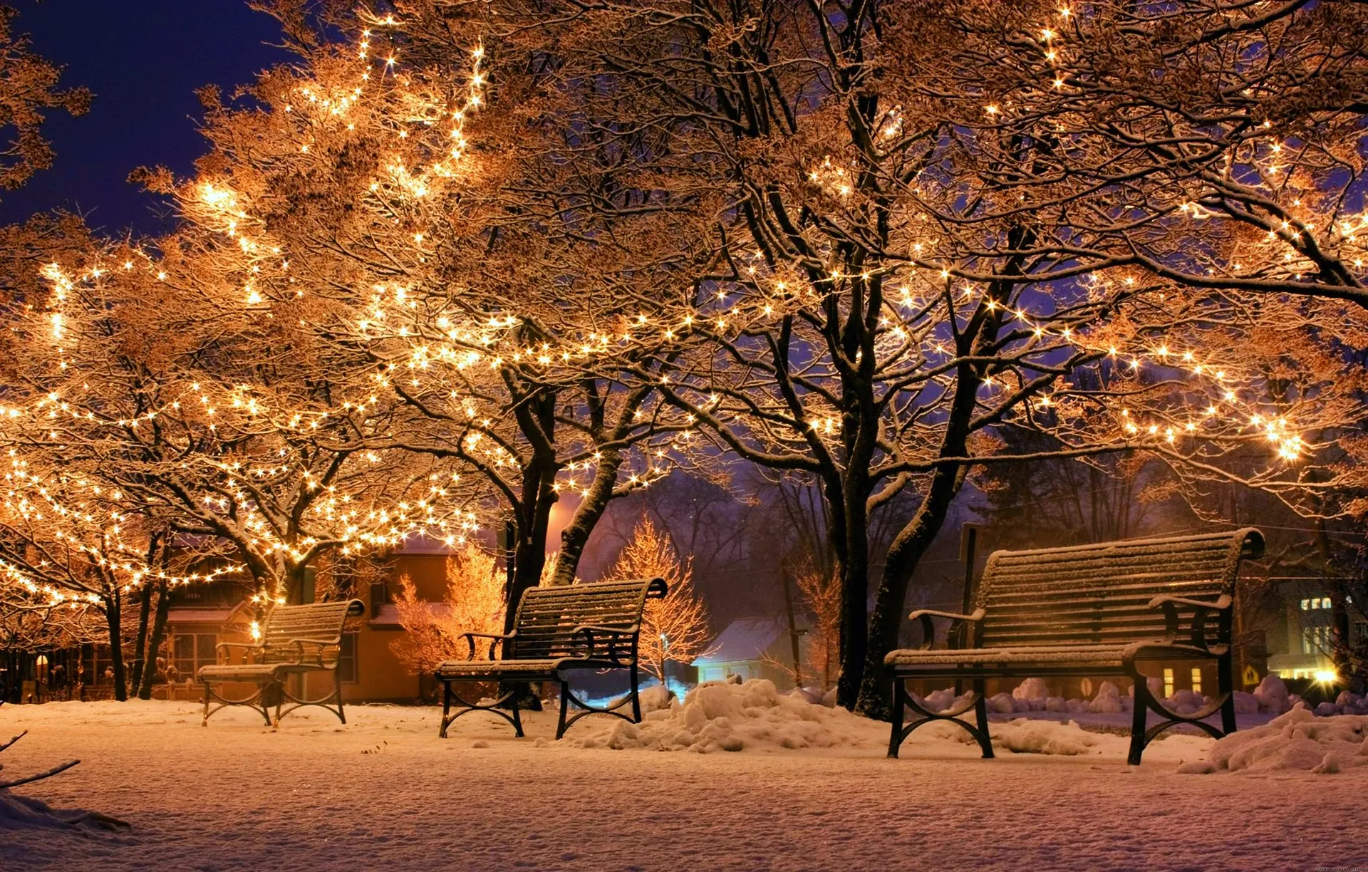
M 512 521 L 510 601 L 538 584 L 551 507 L 573 491 L 566 584 L 606 503 L 662 476 L 688 429 L 613 365 L 663 368 L 658 343 L 628 340 L 670 297 L 676 256 L 624 227 L 662 221 L 627 169 L 562 168 L 566 118 L 520 105 L 517 81 L 486 96 L 488 59 L 462 29 L 477 21 L 460 8 L 321 25 L 300 4 L 271 10 L 301 63 L 253 87 L 265 111 L 211 108 L 194 179 L 146 178 L 226 284 L 328 344 L 353 391 L 405 410 L 386 450 L 440 459 Z M 565 193 L 566 176 L 592 193 Z

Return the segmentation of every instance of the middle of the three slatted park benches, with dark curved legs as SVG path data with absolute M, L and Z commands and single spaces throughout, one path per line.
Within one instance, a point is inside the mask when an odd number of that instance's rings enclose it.
M 529 588 L 518 603 L 512 633 L 466 633 L 468 659 L 438 664 L 436 678 L 442 682 L 442 728 L 438 735 L 446 738 L 446 728 L 461 715 L 491 712 L 513 724 L 514 734 L 521 737 L 518 697 L 527 692 L 524 682 L 536 681 L 561 683 L 561 719 L 555 738 L 565 735 L 565 730 L 580 718 L 595 713 L 640 723 L 636 642 L 642 631 L 642 610 L 648 597 L 662 597 L 666 592 L 661 578 Z M 490 640 L 487 660 L 475 659 L 477 638 Z M 494 651 L 499 646 L 502 656 L 495 660 Z M 583 670 L 628 670 L 631 689 L 605 707 L 590 705 L 576 697 L 569 685 L 569 674 Z M 480 681 L 505 682 L 503 693 L 494 701 L 468 703 L 451 687 L 460 682 Z M 451 712 L 453 703 L 460 704 L 456 713 Z M 566 720 L 570 703 L 580 711 Z M 617 711 L 628 704 L 632 707 L 631 716 Z

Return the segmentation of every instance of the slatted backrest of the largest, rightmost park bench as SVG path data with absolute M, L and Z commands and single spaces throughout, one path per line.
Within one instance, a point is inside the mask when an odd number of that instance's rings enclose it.
M 986 611 L 978 648 L 1124 645 L 1163 638 L 1159 595 L 1211 601 L 1234 596 L 1242 559 L 1257 559 L 1263 534 L 1252 528 L 1204 536 L 1133 539 L 1042 551 L 997 551 L 988 558 L 977 605 Z M 1182 618 L 1194 610 L 1179 608 Z

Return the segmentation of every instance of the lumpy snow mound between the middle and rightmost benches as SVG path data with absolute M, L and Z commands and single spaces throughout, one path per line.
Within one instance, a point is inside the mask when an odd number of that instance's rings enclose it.
M 692 750 L 778 750 L 795 748 L 869 746 L 886 741 L 886 724 L 844 708 L 810 703 L 799 693 L 782 694 L 774 682 L 710 682 L 644 716 L 642 723 L 618 720 L 583 738 L 575 748 Z

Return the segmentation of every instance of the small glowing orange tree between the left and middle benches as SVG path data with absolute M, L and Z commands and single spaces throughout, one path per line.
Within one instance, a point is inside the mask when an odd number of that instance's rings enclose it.
M 420 599 L 413 580 L 399 575 L 394 600 L 405 633 L 390 642 L 410 672 L 428 672 L 438 663 L 465 657 L 465 633 L 498 633 L 503 629 L 503 578 L 492 556 L 471 544 L 446 560 L 446 596 L 440 603 Z M 476 656 L 488 649 L 476 646 Z

